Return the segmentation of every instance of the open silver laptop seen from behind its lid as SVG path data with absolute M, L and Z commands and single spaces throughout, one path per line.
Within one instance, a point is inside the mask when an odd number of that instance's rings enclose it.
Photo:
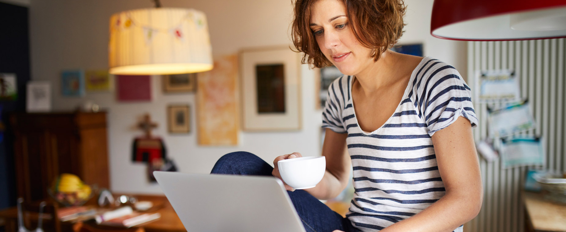
M 187 232 L 305 232 L 275 177 L 153 172 Z

